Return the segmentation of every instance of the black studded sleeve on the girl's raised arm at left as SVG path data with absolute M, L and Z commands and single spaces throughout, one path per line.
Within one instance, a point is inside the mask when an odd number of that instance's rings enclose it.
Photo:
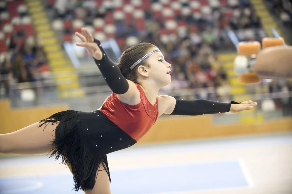
M 101 47 L 100 41 L 94 39 L 94 42 L 98 45 L 102 52 L 102 59 L 96 60 L 94 57 L 94 62 L 99 68 L 103 78 L 105 79 L 109 88 L 116 94 L 124 94 L 129 89 L 129 84 L 126 78 L 122 75 L 121 70 L 105 53 Z

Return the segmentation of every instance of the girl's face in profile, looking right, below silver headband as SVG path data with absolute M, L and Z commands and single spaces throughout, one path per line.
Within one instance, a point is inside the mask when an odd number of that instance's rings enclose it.
M 154 47 L 150 49 L 149 52 L 155 49 L 157 48 Z M 166 86 L 171 82 L 171 64 L 164 60 L 164 56 L 161 52 L 155 52 L 150 55 L 148 57 L 147 63 L 149 65 L 147 68 L 149 76 L 148 78 L 152 78 L 155 83 L 159 84 L 161 87 Z

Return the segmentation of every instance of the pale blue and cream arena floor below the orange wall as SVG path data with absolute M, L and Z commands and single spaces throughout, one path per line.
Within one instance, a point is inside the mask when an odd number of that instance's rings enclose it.
M 0 157 L 0 193 L 76 193 L 59 163 Z M 113 194 L 292 194 L 292 133 L 134 145 L 108 163 Z

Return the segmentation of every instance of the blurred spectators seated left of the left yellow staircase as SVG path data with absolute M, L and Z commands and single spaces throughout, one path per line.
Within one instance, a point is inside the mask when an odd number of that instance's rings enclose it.
M 19 41 L 22 38 L 23 41 Z M 11 34 L 8 51 L 0 66 L 0 88 L 4 87 L 5 95 L 9 95 L 9 83 L 32 82 L 45 80 L 49 77 L 50 68 L 47 64 L 46 53 L 39 44 L 36 36 L 18 36 Z

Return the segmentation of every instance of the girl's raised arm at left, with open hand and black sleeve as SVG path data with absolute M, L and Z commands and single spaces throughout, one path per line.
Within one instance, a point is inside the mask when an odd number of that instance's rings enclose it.
M 105 53 L 100 41 L 93 39 L 92 35 L 86 29 L 81 29 L 82 34 L 76 32 L 76 35 L 83 41 L 76 43 L 77 46 L 84 46 L 93 57 L 103 78 L 109 88 L 116 94 L 124 94 L 129 89 L 129 84 L 121 73 L 121 70 Z

